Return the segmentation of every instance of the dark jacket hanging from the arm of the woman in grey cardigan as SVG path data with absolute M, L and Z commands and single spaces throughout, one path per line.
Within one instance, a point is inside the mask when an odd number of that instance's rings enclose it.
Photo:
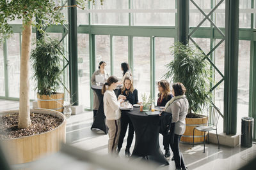
M 170 134 L 170 143 L 173 143 L 174 139 L 174 127 L 175 123 L 172 123 L 172 113 L 162 111 L 159 119 L 159 133 L 166 135 Z

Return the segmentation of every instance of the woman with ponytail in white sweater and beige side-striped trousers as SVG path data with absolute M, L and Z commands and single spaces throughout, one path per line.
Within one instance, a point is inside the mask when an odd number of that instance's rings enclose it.
M 108 153 L 115 154 L 116 146 L 120 135 L 120 103 L 123 99 L 116 99 L 114 89 L 116 89 L 118 79 L 115 76 L 110 76 L 108 81 L 102 87 L 104 114 L 106 116 L 106 125 L 108 126 Z

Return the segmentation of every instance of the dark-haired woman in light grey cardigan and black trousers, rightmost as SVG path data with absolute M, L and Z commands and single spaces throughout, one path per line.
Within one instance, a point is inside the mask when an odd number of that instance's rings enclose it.
M 170 143 L 176 169 L 187 169 L 184 163 L 184 157 L 180 152 L 180 138 L 186 130 L 185 118 L 188 114 L 188 99 L 186 99 L 186 88 L 182 83 L 174 83 L 172 85 L 172 94 L 174 97 L 165 105 L 165 111 L 172 113 L 172 123 L 175 122 L 174 140 Z

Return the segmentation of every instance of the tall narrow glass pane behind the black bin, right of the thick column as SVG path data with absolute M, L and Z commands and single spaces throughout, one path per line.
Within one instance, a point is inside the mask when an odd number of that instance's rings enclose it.
M 250 41 L 239 40 L 238 85 L 237 85 L 237 132 L 241 132 L 239 125 L 242 117 L 249 113 L 249 85 L 250 85 Z

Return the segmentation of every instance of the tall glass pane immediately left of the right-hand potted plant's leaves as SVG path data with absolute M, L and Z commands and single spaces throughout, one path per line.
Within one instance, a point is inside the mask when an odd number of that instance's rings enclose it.
M 163 75 L 167 71 L 165 65 L 174 59 L 169 49 L 173 44 L 174 38 L 155 38 L 155 103 L 157 103 L 159 93 L 157 82 L 164 79 Z

